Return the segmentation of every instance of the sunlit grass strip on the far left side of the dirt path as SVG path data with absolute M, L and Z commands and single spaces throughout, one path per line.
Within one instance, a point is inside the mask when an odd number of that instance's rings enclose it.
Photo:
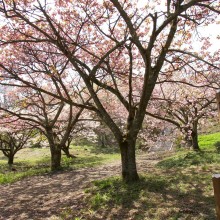
M 99 151 L 99 154 L 97 153 Z M 119 154 L 111 149 L 97 149 L 93 146 L 72 146 L 71 153 L 76 158 L 62 157 L 64 170 L 91 167 L 119 159 Z M 14 158 L 13 171 L 7 158 L 0 152 L 0 184 L 12 183 L 27 176 L 50 172 L 50 152 L 48 148 L 27 148 L 19 151 Z

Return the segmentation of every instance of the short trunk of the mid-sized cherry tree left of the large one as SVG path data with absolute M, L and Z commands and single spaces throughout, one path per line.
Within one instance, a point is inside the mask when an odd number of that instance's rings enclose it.
M 59 146 L 50 146 L 51 152 L 51 171 L 61 169 L 61 148 Z

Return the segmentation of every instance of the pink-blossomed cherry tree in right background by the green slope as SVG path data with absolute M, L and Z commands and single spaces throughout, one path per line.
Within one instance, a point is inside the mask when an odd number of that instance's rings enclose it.
M 155 89 L 150 106 L 147 115 L 175 125 L 182 132 L 185 144 L 198 151 L 198 126 L 216 114 L 215 90 L 162 84 Z

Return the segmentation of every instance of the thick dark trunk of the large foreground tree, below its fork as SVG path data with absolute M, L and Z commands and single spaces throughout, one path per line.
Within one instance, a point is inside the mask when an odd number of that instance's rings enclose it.
M 122 178 L 125 182 L 135 182 L 139 180 L 135 159 L 135 142 L 124 141 L 120 144 Z

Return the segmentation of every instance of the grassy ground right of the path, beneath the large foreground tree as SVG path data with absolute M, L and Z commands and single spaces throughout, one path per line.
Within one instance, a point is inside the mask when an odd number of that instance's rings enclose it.
M 85 191 L 84 209 L 63 219 L 216 219 L 212 174 L 220 173 L 214 147 L 220 133 L 199 140 L 202 152 L 179 151 L 142 173 L 138 183 L 127 185 L 120 177 L 95 181 Z

